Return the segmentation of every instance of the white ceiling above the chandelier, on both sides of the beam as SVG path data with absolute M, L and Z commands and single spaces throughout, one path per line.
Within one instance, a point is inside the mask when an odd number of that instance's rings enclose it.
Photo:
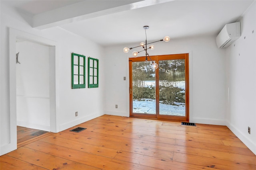
M 104 6 L 104 3 L 101 3 L 103 1 L 94 2 L 99 2 L 98 6 L 101 4 Z M 144 41 L 144 25 L 150 26 L 147 30 L 148 41 L 162 39 L 165 35 L 169 35 L 171 39 L 218 35 L 226 23 L 237 21 L 253 2 L 253 0 L 137 1 L 127 0 L 126 4 L 130 4 L 129 8 L 121 4 L 116 5 L 118 8 L 108 9 L 100 14 L 92 11 L 94 15 L 90 17 L 80 17 L 79 20 L 74 19 L 68 23 L 60 23 L 58 26 L 104 46 Z M 57 8 L 64 9 L 64 6 L 72 4 L 80 5 L 81 2 L 90 1 L 19 0 L 4 3 L 28 14 L 38 15 Z M 115 4 L 118 1 L 105 0 L 105 2 Z M 134 2 L 140 5 L 134 6 L 132 4 Z M 90 5 L 87 8 L 90 8 Z

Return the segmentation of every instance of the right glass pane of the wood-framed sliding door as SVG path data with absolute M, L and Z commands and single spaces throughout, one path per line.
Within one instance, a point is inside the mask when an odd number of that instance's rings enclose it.
M 185 59 L 159 61 L 159 114 L 185 116 Z

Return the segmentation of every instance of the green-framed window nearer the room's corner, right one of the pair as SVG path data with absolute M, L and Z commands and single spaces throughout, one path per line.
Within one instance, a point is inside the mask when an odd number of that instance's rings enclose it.
M 99 60 L 88 57 L 88 88 L 99 87 Z

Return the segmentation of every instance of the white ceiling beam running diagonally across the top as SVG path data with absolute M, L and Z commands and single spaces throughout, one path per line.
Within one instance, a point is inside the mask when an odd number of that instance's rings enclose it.
M 32 27 L 47 29 L 173 0 L 86 0 L 33 16 Z

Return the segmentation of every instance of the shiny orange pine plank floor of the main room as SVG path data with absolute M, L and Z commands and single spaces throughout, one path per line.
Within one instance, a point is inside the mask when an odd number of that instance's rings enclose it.
M 103 115 L 76 127 L 24 143 L 0 157 L 0 169 L 256 170 L 255 154 L 226 126 Z

